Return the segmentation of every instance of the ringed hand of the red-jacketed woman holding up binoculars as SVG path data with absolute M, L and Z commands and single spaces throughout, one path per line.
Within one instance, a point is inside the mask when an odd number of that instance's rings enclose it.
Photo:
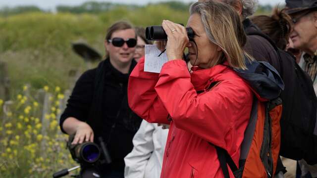
M 185 47 L 189 44 L 186 28 L 169 20 L 163 20 L 162 27 L 167 35 L 168 60 L 182 59 Z

